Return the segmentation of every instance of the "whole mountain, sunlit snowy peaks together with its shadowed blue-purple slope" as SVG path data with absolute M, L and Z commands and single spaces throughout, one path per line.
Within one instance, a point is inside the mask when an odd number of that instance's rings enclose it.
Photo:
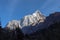
M 60 21 L 60 12 L 55 12 L 45 17 L 37 10 L 31 15 L 24 16 L 21 20 L 9 21 L 6 28 L 14 30 L 19 27 L 24 34 L 31 34 L 38 29 L 48 28 L 55 22 Z

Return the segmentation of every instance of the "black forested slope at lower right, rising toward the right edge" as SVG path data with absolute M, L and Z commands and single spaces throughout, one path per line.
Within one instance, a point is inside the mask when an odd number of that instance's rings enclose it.
M 27 40 L 60 40 L 60 22 L 50 25 L 47 29 L 37 30 L 26 35 Z

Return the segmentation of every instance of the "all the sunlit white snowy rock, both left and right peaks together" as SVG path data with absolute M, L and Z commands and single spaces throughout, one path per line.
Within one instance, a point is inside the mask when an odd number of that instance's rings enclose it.
M 35 26 L 36 24 L 39 24 L 40 22 L 44 22 L 45 18 L 46 17 L 42 15 L 42 13 L 39 10 L 37 10 L 31 15 L 24 16 L 21 20 L 9 21 L 6 27 L 8 27 L 9 29 L 16 29 L 17 27 L 20 27 L 22 29 L 30 25 Z

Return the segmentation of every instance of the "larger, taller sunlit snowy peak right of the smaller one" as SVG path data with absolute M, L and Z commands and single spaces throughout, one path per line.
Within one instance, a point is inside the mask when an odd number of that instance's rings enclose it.
M 29 26 L 32 24 L 35 25 L 39 20 L 41 20 L 40 22 L 43 22 L 44 19 L 45 17 L 41 14 L 40 11 L 37 10 L 32 15 L 26 15 L 24 17 L 23 26 Z

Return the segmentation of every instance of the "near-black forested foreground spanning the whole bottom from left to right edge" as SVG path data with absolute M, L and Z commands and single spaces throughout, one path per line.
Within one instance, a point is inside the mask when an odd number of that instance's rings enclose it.
M 60 40 L 60 22 L 25 36 L 19 28 L 14 31 L 6 31 L 0 27 L 0 40 Z

